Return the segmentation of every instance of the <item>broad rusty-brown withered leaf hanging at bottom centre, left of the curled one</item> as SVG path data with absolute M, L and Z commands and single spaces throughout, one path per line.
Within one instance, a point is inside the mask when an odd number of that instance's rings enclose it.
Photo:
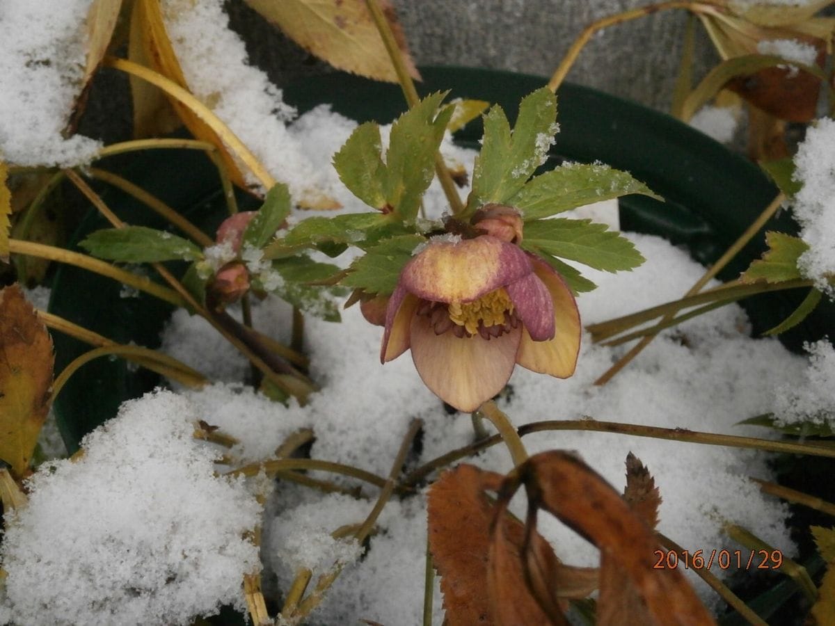
M 429 548 L 441 575 L 449 626 L 564 623 L 549 621 L 529 593 L 521 558 L 524 525 L 504 510 L 497 513 L 484 493 L 496 491 L 503 478 L 461 465 L 444 472 L 429 489 Z M 538 588 L 553 588 L 546 580 L 552 575 L 571 578 L 573 568 L 559 563 L 539 533 L 531 534 L 529 544 L 531 578 Z M 579 569 L 579 578 L 587 577 L 585 569 Z

